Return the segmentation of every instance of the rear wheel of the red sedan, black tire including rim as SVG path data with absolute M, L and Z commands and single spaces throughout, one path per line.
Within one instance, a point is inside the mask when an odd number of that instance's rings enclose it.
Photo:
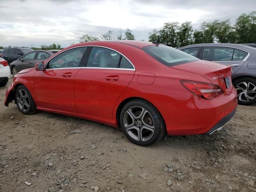
M 132 113 L 138 113 L 140 114 L 140 108 L 143 111 L 146 112 L 143 117 L 140 118 L 134 118 L 134 120 L 131 118 L 129 115 L 128 111 L 132 110 Z M 137 112 L 136 112 L 137 111 Z M 135 113 L 134 113 L 135 112 Z M 141 112 L 142 114 L 142 112 Z M 141 115 L 140 114 L 140 115 Z M 139 115 L 139 116 L 140 116 Z M 134 116 L 135 117 L 135 116 Z M 129 120 L 130 118 L 130 120 Z M 144 118 L 144 119 L 142 119 Z M 130 122 L 128 123 L 128 119 Z M 150 120 L 151 119 L 151 120 Z M 152 121 L 153 120 L 153 121 Z M 140 146 L 148 146 L 151 145 L 159 140 L 164 136 L 166 132 L 166 128 L 164 125 L 164 120 L 161 116 L 161 114 L 158 112 L 158 110 L 149 102 L 144 101 L 144 100 L 132 100 L 125 104 L 125 106 L 122 108 L 121 113 L 120 113 L 120 126 L 125 134 L 125 136 L 134 144 L 140 145 Z M 149 123 L 149 122 L 150 123 Z M 140 122 L 140 127 L 138 123 Z M 126 126 L 125 126 L 126 124 Z M 151 124 L 151 126 L 154 126 L 153 131 L 149 131 L 148 129 L 145 129 L 145 126 L 147 127 L 148 125 Z M 136 129 L 128 128 L 128 127 L 134 127 Z M 148 127 L 147 127 L 148 128 Z M 130 129 L 130 130 L 126 130 Z M 139 136 L 139 131 L 141 130 L 140 133 L 144 134 L 144 139 L 143 139 L 143 134 L 140 134 L 141 137 Z M 128 133 L 129 132 L 129 133 Z M 138 138 L 136 138 L 136 134 L 138 134 Z M 136 138 L 136 139 L 135 139 Z M 142 138 L 142 139 L 140 139 Z M 143 141 L 144 140 L 144 141 Z

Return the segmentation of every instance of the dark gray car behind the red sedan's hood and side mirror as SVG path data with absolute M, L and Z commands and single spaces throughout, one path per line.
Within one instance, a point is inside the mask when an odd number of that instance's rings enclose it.
M 54 55 L 54 53 L 46 50 L 36 50 L 29 52 L 28 54 L 20 57 L 10 64 L 11 73 L 14 76 L 21 70 L 32 68 L 36 63 L 43 62 L 52 55 Z

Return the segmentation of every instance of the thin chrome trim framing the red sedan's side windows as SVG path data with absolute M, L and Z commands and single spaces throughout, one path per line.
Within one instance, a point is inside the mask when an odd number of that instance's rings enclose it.
M 115 52 L 119 53 L 120 55 L 122 55 L 124 58 L 126 58 L 126 59 L 128 60 L 128 62 L 130 62 L 130 64 L 132 64 L 132 62 L 131 62 L 126 56 L 124 56 L 122 53 L 118 52 L 117 50 L 114 50 L 114 49 L 112 49 L 112 48 L 105 47 L 105 46 L 98 46 L 98 45 L 85 45 L 85 46 L 72 47 L 72 48 L 69 48 L 69 49 L 67 49 L 67 50 L 65 50 L 65 51 L 63 51 L 63 52 L 57 53 L 53 58 L 55 58 L 55 57 L 58 56 L 59 54 L 62 54 L 62 53 L 64 53 L 64 52 L 68 51 L 68 50 L 75 49 L 75 48 L 80 48 L 80 47 L 101 47 L 101 48 L 110 49 L 110 50 L 115 51 Z M 44 66 L 46 66 L 46 65 L 48 64 L 48 62 L 50 62 L 53 58 L 51 58 L 50 60 L 48 60 L 48 61 L 44 64 Z M 93 69 L 98 68 L 98 69 L 117 69 L 117 70 L 132 70 L 132 71 L 134 71 L 134 70 L 135 70 L 135 67 L 134 67 L 133 64 L 132 64 L 132 66 L 133 66 L 133 69 L 127 69 L 127 68 L 104 68 L 104 67 L 73 67 L 72 69 L 74 69 L 74 68 L 93 68 Z M 54 68 L 54 69 L 69 69 L 69 68 Z M 46 69 L 46 70 L 52 70 L 52 69 Z

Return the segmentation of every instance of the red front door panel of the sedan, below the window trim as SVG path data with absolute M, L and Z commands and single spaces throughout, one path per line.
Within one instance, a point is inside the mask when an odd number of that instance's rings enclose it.
M 77 112 L 74 78 L 79 68 L 47 69 L 34 75 L 38 107 Z

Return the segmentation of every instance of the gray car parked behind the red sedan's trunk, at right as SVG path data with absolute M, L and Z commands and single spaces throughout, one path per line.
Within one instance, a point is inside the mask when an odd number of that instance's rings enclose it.
M 256 102 L 256 49 L 241 44 L 194 44 L 178 48 L 202 60 L 232 65 L 238 103 Z M 214 64 L 214 63 L 213 63 Z

